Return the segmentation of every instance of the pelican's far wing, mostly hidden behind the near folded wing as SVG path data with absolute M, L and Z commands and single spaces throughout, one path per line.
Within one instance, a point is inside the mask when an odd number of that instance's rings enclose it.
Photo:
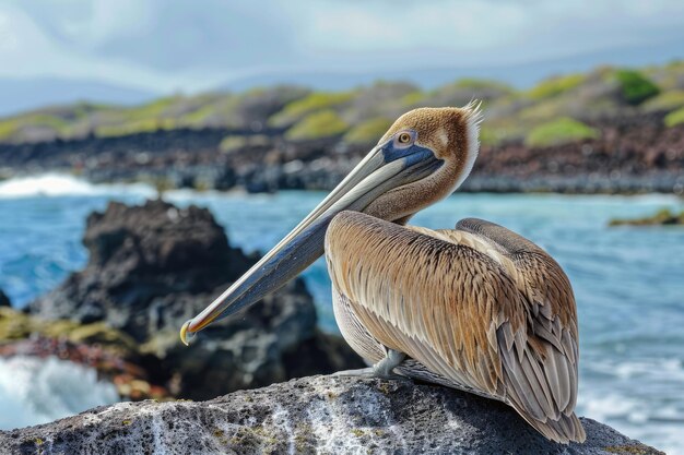
M 574 417 L 577 403 L 577 370 L 579 360 L 577 309 L 573 287 L 561 266 L 544 250 L 526 238 L 494 223 L 476 218 L 462 219 L 456 226 L 459 231 L 472 234 L 490 241 L 503 251 L 502 262 L 506 272 L 515 280 L 516 287 L 524 296 L 528 307 L 527 354 L 532 354 L 530 364 L 520 361 L 520 356 L 510 349 L 500 349 L 507 393 L 517 408 L 524 405 L 522 396 L 527 384 L 532 384 L 534 375 L 543 374 L 538 381 L 546 385 L 547 403 L 552 420 L 558 420 L 566 434 L 576 434 L 583 440 L 585 431 L 575 419 L 562 419 L 562 415 Z M 532 361 L 532 358 L 536 361 Z M 536 367 L 541 370 L 536 371 Z M 543 403 L 543 399 L 539 400 Z M 528 406 L 526 409 L 530 410 Z M 534 414 L 533 414 L 534 416 Z M 535 416 L 536 417 L 536 416 Z

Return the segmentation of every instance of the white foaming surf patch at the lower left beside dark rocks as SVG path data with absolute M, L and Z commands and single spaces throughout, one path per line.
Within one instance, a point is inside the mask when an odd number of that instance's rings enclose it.
M 95 370 L 50 357 L 0 358 L 0 430 L 50 422 L 119 400 Z

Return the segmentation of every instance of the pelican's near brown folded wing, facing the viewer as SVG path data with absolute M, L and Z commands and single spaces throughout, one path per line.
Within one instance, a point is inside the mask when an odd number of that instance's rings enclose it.
M 573 414 L 576 324 L 554 337 L 563 321 L 549 313 L 556 303 L 530 303 L 528 295 L 545 291 L 535 287 L 544 274 L 527 277 L 527 260 L 472 228 L 404 228 L 359 213 L 333 219 L 326 254 L 333 286 L 385 346 L 509 403 L 550 439 L 583 440 Z

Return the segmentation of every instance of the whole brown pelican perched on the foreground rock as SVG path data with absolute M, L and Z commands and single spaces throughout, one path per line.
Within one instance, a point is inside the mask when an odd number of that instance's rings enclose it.
M 479 105 L 400 117 L 352 172 L 204 311 L 181 339 L 278 289 L 323 252 L 342 335 L 381 378 L 412 378 L 502 400 L 550 440 L 583 441 L 577 312 L 541 248 L 463 219 L 405 226 L 451 194 L 477 155 Z

